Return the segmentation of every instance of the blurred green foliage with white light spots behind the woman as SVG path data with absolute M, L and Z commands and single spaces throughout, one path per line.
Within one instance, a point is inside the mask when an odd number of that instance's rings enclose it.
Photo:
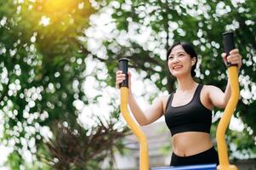
M 1 144 L 11 148 L 6 166 L 99 169 L 105 157 L 123 153 L 128 134 L 118 121 L 117 59 L 128 57 L 144 86 L 154 87 L 139 94 L 151 103 L 176 85 L 167 48 L 188 41 L 199 54 L 196 81 L 225 89 L 225 31 L 234 31 L 243 57 L 235 113 L 240 128 L 226 136 L 230 156 L 255 156 L 255 10 L 249 0 L 1 1 Z M 214 110 L 213 136 L 221 114 Z

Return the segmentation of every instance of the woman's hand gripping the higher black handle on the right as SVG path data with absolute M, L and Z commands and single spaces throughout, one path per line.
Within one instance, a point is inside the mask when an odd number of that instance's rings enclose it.
M 225 53 L 221 54 L 221 56 L 222 56 L 222 59 L 225 62 L 225 65 L 227 64 L 227 62 L 229 62 L 231 65 L 237 65 L 238 69 L 241 68 L 241 66 L 242 66 L 242 56 L 239 53 L 239 50 L 237 48 L 232 49 L 230 51 L 230 55 L 228 57 L 226 57 Z

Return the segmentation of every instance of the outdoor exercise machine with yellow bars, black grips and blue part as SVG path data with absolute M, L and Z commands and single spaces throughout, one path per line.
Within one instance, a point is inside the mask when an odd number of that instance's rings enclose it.
M 230 54 L 230 50 L 235 48 L 233 33 L 225 32 L 223 34 L 225 53 L 227 56 Z M 228 104 L 226 105 L 224 115 L 222 116 L 218 128 L 217 128 L 217 145 L 219 152 L 219 166 L 218 170 L 237 170 L 237 167 L 230 165 L 227 153 L 227 146 L 225 143 L 225 131 L 230 123 L 232 114 L 236 109 L 236 105 L 239 98 L 239 83 L 238 83 L 238 68 L 237 65 L 227 64 L 228 74 L 231 85 L 231 96 Z M 145 133 L 141 130 L 139 125 L 134 122 L 132 116 L 128 112 L 128 59 L 119 59 L 119 70 L 126 75 L 125 81 L 120 84 L 121 90 L 121 112 L 128 126 L 132 129 L 133 133 L 139 140 L 140 159 L 139 170 L 149 170 L 149 158 L 148 158 L 148 144 L 146 141 Z M 206 165 L 191 165 L 191 166 L 179 166 L 179 167 L 151 167 L 151 170 L 213 170 L 216 169 L 216 164 Z

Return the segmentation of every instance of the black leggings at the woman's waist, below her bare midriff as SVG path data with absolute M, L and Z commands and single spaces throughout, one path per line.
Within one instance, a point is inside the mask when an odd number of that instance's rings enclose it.
M 210 163 L 216 163 L 217 165 L 219 165 L 219 156 L 214 147 L 193 156 L 177 156 L 173 152 L 170 166 L 184 166 Z

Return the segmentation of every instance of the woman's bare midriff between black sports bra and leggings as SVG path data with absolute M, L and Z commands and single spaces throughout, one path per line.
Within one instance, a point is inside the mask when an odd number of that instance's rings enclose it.
M 193 156 L 213 147 L 209 133 L 176 133 L 172 140 L 173 151 L 177 156 Z

